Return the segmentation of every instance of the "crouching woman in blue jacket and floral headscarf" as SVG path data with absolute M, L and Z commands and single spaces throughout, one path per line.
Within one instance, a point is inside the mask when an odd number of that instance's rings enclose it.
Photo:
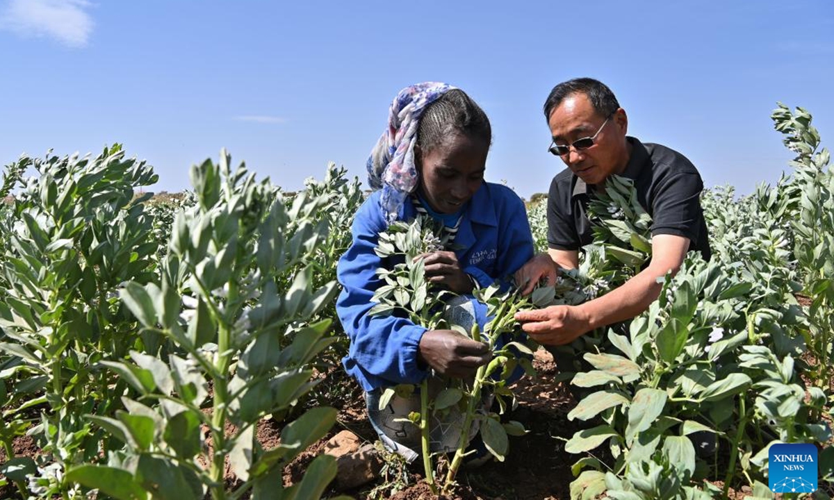
M 395 422 L 420 410 L 419 396 L 394 398 L 379 411 L 382 388 L 417 384 L 433 373 L 465 378 L 490 359 L 485 343 L 453 330 L 427 330 L 406 318 L 374 316 L 371 298 L 382 284 L 376 275 L 384 262 L 374 253 L 379 233 L 396 220 L 428 213 L 454 239 L 453 250 L 425 256 L 425 276 L 465 295 L 475 285 L 509 280 L 533 256 L 524 203 L 509 188 L 486 183 L 484 171 L 492 142 L 490 120 L 465 92 L 445 83 L 406 87 L 391 104 L 388 128 L 368 160 L 374 188 L 353 223 L 353 243 L 339 259 L 336 303 L 350 338 L 345 370 L 365 391 L 369 418 L 383 442 L 407 460 L 417 458 L 420 431 Z M 485 307 L 474 304 L 484 323 Z M 478 307 L 480 306 L 480 307 Z M 436 437 L 432 451 L 450 451 L 454 432 Z M 436 437 L 436 438 L 435 438 Z

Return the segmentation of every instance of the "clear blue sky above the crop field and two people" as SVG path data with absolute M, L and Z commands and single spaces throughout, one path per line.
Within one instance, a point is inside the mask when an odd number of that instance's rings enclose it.
M 0 162 L 119 142 L 156 191 L 223 147 L 288 189 L 329 161 L 364 179 L 396 92 L 440 80 L 490 116 L 487 179 L 526 198 L 564 168 L 541 106 L 580 76 L 631 135 L 750 193 L 791 159 L 776 101 L 834 135 L 834 2 L 0 0 Z

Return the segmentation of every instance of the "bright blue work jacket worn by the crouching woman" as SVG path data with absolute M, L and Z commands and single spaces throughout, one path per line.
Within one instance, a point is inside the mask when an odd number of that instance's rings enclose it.
M 350 338 L 349 353 L 342 363 L 365 391 L 420 383 L 428 374 L 428 368 L 421 368 L 417 362 L 426 328 L 406 318 L 368 314 L 375 305 L 371 302 L 374 291 L 384 283 L 376 275 L 384 262 L 374 253 L 379 233 L 388 227 L 379 208 L 379 196 L 379 191 L 372 193 L 356 213 L 353 243 L 337 268 L 343 290 L 336 312 Z M 399 220 L 415 216 L 414 205 L 406 200 Z M 464 272 L 481 287 L 512 278 L 533 257 L 533 237 L 524 203 L 510 188 L 483 183 L 465 208 L 455 247 Z

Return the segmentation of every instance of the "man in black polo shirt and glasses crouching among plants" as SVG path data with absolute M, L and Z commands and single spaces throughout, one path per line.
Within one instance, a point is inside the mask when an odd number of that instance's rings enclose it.
M 701 176 L 681 153 L 626 136 L 628 117 L 614 93 L 592 78 L 560 83 L 545 102 L 553 142 L 550 153 L 568 168 L 553 178 L 548 197 L 548 253 L 515 273 L 530 293 L 540 278 L 579 266 L 579 250 L 593 233 L 586 209 L 605 179 L 634 180 L 637 199 L 653 219 L 651 263 L 620 288 L 579 306 L 553 306 L 515 318 L 535 341 L 564 345 L 591 330 L 634 318 L 655 301 L 657 278 L 676 273 L 689 250 L 710 258 L 701 210 Z

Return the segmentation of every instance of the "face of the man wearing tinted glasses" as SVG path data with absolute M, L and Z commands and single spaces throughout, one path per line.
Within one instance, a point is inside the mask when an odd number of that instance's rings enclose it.
M 605 119 L 608 118 L 608 122 Z M 622 173 L 628 164 L 625 132 L 628 119 L 620 108 L 610 117 L 600 116 L 583 93 L 571 94 L 550 112 L 550 133 L 558 145 L 573 144 L 581 138 L 593 137 L 587 149 L 570 147 L 560 156 L 571 172 L 588 184 L 601 184 L 608 176 Z

